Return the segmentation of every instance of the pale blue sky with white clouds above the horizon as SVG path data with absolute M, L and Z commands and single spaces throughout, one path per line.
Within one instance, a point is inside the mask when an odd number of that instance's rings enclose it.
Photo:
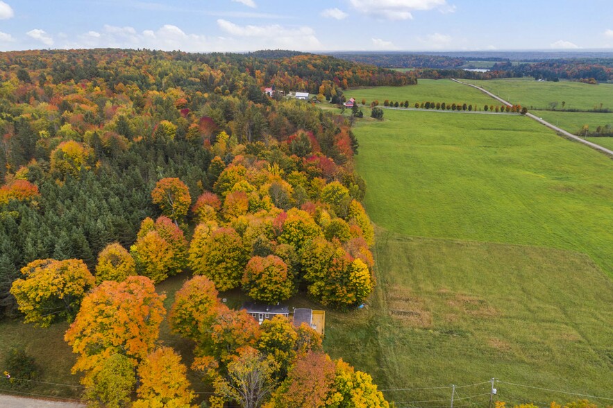
M 613 49 L 612 0 L 0 0 L 0 51 Z

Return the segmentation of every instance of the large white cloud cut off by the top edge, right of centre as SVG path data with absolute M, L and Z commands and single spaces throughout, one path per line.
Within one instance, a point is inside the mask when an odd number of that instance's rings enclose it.
M 448 5 L 446 0 L 349 0 L 349 3 L 365 15 L 389 20 L 412 19 L 416 10 L 455 11 L 455 6 Z

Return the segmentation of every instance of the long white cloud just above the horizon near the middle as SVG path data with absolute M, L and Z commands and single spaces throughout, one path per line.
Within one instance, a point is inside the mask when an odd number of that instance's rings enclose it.
M 235 37 L 260 40 L 257 42 L 246 42 L 245 44 L 249 43 L 249 49 L 253 49 L 253 46 L 255 46 L 255 49 L 281 47 L 315 50 L 321 48 L 321 43 L 317 40 L 317 37 L 315 37 L 313 29 L 307 26 L 296 28 L 287 28 L 278 24 L 270 24 L 267 26 L 239 26 L 224 19 L 218 19 L 217 26 L 221 28 L 221 31 Z M 266 39 L 266 41 L 261 41 L 262 39 Z

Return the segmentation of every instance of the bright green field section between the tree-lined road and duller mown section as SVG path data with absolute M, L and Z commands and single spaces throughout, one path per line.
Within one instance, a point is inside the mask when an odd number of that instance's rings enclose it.
M 354 133 L 381 227 L 575 250 L 613 276 L 607 156 L 521 116 L 385 110 Z

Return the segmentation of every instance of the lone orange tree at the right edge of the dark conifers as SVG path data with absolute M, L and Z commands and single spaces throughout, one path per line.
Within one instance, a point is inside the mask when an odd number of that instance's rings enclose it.
M 153 203 L 160 206 L 162 214 L 175 222 L 187 215 L 192 205 L 190 190 L 178 178 L 162 178 L 151 192 Z

